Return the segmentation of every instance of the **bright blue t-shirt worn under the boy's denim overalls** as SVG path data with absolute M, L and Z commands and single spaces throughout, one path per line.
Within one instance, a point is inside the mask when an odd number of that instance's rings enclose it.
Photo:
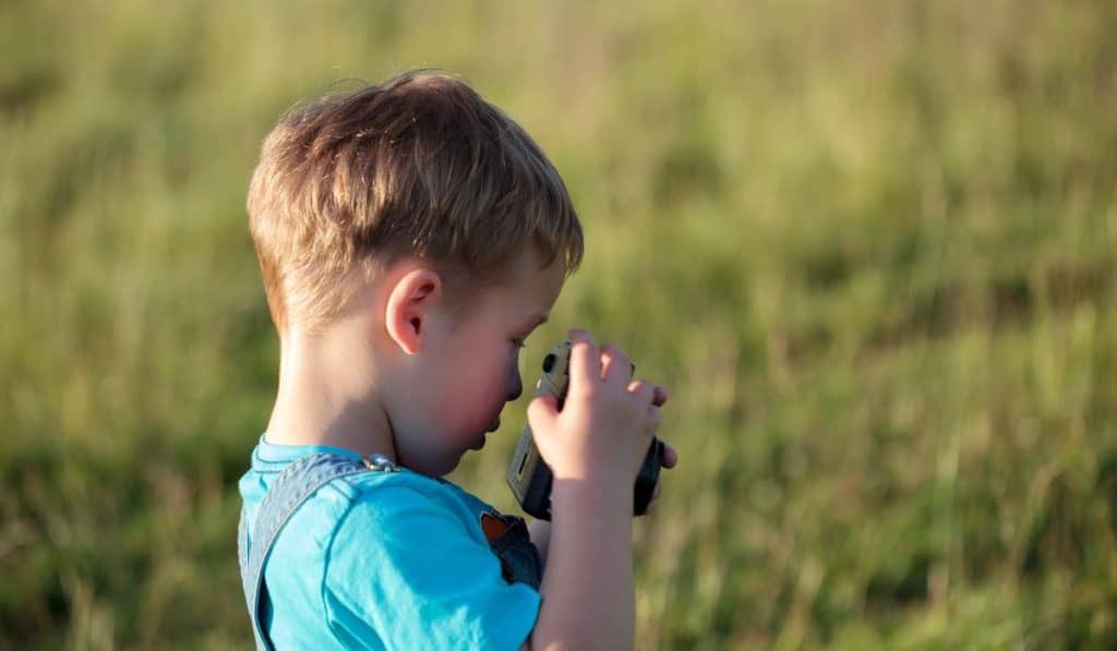
M 240 479 L 247 521 L 287 465 L 317 452 L 360 459 L 261 437 Z M 519 648 L 540 594 L 502 577 L 480 524 L 490 511 L 461 488 L 407 469 L 334 479 L 271 548 L 261 625 L 277 649 Z

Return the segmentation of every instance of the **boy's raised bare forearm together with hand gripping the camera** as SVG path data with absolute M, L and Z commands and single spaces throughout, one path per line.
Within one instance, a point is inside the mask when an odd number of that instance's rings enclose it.
M 662 389 L 633 382 L 623 353 L 571 332 L 570 386 L 528 406 L 552 468 L 551 527 L 532 648 L 631 649 L 632 485 L 659 427 Z

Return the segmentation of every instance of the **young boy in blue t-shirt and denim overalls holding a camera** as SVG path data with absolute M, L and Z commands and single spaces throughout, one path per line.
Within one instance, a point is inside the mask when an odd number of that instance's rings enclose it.
M 287 115 L 248 212 L 281 342 L 240 480 L 257 645 L 631 647 L 632 487 L 667 394 L 621 351 L 572 331 L 562 411 L 531 403 L 550 524 L 528 536 L 440 479 L 519 396 L 519 348 L 582 256 L 532 138 L 459 79 L 409 73 Z

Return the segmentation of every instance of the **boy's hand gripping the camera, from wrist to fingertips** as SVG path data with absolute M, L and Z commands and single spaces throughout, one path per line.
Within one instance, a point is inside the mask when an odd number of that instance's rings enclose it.
M 571 331 L 570 384 L 563 410 L 553 395 L 527 408 L 535 444 L 555 479 L 615 481 L 631 487 L 659 429 L 662 387 L 632 380 L 632 364 L 614 346 L 599 347 L 584 331 Z M 668 461 L 670 460 L 670 463 Z M 663 466 L 675 465 L 674 450 Z

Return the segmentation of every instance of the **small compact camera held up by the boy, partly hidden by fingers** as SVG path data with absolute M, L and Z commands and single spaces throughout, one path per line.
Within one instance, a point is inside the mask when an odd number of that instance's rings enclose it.
M 571 343 L 563 342 L 547 353 L 546 357 L 543 358 L 543 375 L 535 387 L 536 396 L 554 395 L 558 400 L 560 411 L 566 399 L 570 381 L 567 373 L 570 350 Z M 651 496 L 656 490 L 656 484 L 659 481 L 662 458 L 663 443 L 659 439 L 652 439 L 633 487 L 633 515 L 640 516 L 647 513 Z M 536 518 L 550 520 L 551 485 L 553 481 L 554 476 L 551 473 L 551 468 L 540 457 L 540 451 L 535 447 L 535 437 L 532 434 L 532 425 L 527 423 L 519 434 L 519 442 L 516 444 L 512 463 L 508 466 L 508 486 L 526 513 Z

